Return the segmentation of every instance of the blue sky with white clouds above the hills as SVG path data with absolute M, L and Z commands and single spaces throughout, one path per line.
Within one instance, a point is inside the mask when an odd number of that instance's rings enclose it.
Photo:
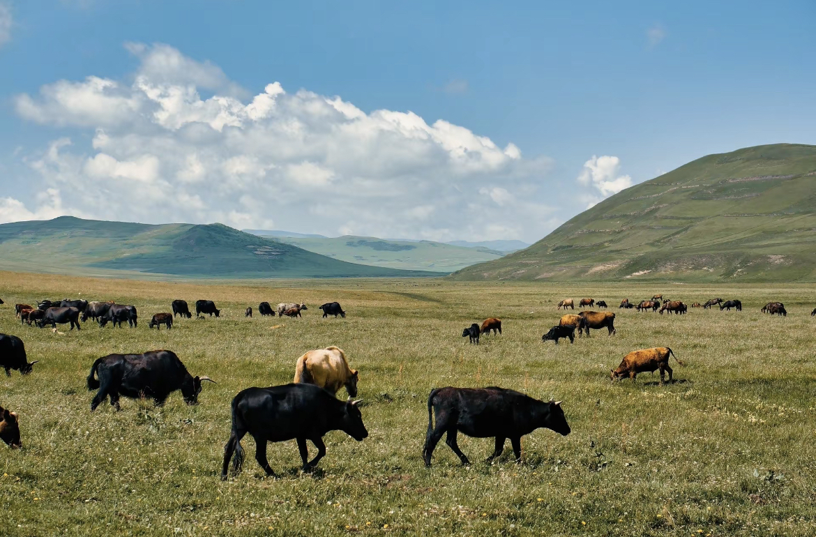
M 706 154 L 816 144 L 814 23 L 812 0 L 0 0 L 0 223 L 534 242 Z

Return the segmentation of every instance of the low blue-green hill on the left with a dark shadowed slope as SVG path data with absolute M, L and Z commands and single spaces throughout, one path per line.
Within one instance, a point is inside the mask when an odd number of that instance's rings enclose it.
M 60 216 L 0 225 L 0 269 L 128 277 L 417 277 L 333 260 L 223 224 L 129 224 Z

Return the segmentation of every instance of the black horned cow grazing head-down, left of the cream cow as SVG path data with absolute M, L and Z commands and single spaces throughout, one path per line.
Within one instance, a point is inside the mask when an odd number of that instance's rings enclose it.
M 94 377 L 96 375 L 96 378 Z M 202 391 L 202 381 L 210 377 L 193 377 L 172 351 L 157 350 L 143 354 L 109 354 L 101 357 L 91 366 L 88 375 L 88 391 L 99 388 L 91 411 L 110 396 L 110 404 L 120 410 L 119 397 L 150 397 L 157 405 L 176 390 L 181 390 L 184 402 L 195 405 Z

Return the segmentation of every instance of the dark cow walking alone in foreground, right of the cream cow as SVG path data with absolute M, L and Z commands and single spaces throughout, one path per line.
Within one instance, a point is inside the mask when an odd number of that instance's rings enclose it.
M 433 424 L 433 415 L 437 424 Z M 489 388 L 437 388 L 428 396 L 428 433 L 422 456 L 425 466 L 431 465 L 433 448 L 447 433 L 445 443 L 450 446 L 462 464 L 470 464 L 459 445 L 456 434 L 468 437 L 495 437 L 493 455 L 487 462 L 502 454 L 504 442 L 510 438 L 516 461 L 521 461 L 521 437 L 537 428 L 548 428 L 563 436 L 570 434 L 560 401 L 543 402 L 514 390 Z

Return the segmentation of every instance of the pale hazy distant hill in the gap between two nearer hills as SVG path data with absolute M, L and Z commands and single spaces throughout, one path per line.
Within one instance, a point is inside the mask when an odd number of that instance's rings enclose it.
M 268 237 L 336 260 L 388 269 L 451 273 L 471 264 L 496 260 L 504 252 L 443 242 L 394 241 L 377 237 Z

